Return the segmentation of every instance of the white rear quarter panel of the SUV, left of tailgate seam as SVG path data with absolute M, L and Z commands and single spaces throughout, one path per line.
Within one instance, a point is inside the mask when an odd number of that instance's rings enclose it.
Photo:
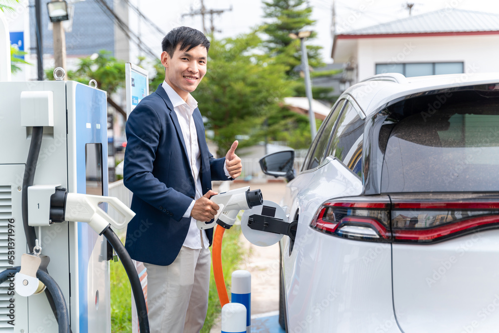
M 299 210 L 290 255 L 289 238 L 283 243 L 289 332 L 400 332 L 392 307 L 391 246 L 345 240 L 309 227 L 324 201 L 361 194 L 359 177 L 328 157 L 321 167 L 298 175 L 286 192 L 283 203 L 291 207 L 290 219 Z

